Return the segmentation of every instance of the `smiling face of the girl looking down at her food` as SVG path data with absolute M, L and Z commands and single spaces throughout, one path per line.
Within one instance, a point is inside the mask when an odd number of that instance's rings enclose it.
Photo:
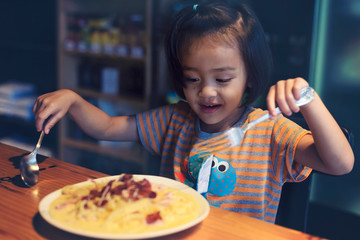
M 181 59 L 184 94 L 207 132 L 223 131 L 239 120 L 247 74 L 237 47 L 215 43 L 210 38 L 195 41 Z

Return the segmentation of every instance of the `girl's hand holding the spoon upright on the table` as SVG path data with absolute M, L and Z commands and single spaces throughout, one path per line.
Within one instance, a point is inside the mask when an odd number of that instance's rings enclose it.
M 36 130 L 44 130 L 48 134 L 50 129 L 69 111 L 76 96 L 78 95 L 75 92 L 68 89 L 39 96 L 33 107 Z

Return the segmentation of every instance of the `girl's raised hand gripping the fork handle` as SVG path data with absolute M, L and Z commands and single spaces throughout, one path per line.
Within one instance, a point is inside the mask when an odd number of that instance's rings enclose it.
M 281 80 L 271 86 L 266 98 L 270 118 L 274 119 L 277 116 L 276 105 L 286 116 L 299 112 L 300 107 L 296 105 L 296 101 L 300 99 L 301 89 L 307 86 L 308 82 L 300 77 Z

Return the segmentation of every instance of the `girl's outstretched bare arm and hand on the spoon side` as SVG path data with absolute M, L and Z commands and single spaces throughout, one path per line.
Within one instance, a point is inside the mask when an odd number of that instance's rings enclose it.
M 33 112 L 36 129 L 44 129 L 46 134 L 66 113 L 69 113 L 85 133 L 96 139 L 138 140 L 134 116 L 111 117 L 71 90 L 62 89 L 38 97 Z

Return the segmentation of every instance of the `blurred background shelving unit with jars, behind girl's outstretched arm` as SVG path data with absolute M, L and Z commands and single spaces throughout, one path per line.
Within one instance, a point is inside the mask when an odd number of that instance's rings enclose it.
M 58 1 L 58 88 L 73 90 L 111 116 L 148 109 L 154 97 L 152 5 L 152 0 Z M 59 124 L 64 161 L 85 164 L 91 158 L 99 169 L 123 162 L 147 167 L 149 153 L 141 144 L 77 137 L 76 129 L 70 118 Z

